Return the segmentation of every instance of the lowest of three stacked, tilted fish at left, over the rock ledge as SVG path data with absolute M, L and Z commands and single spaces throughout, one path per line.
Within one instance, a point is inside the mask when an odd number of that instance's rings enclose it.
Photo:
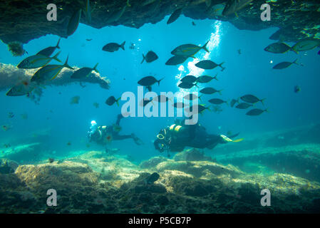
M 53 80 L 65 67 L 73 70 L 73 68 L 68 65 L 68 57 L 63 65 L 47 65 L 43 66 L 43 68 L 38 69 L 38 71 L 36 71 L 36 73 L 34 73 L 34 75 L 32 76 L 31 82 L 40 84 Z

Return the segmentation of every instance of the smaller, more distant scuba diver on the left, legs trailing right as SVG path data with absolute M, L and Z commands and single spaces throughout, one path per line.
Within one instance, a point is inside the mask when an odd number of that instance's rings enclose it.
M 125 140 L 127 138 L 132 138 L 135 144 L 142 145 L 143 142 L 135 136 L 134 133 L 131 135 L 119 135 L 121 130 L 120 120 L 123 118 L 123 115 L 117 116 L 117 121 L 114 125 L 110 126 L 98 126 L 96 121 L 91 121 L 91 127 L 88 131 L 89 142 L 96 142 L 100 145 L 106 145 L 111 140 Z

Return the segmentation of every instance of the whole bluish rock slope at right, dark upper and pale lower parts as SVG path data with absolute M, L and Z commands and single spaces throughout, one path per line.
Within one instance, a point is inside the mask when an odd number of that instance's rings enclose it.
M 246 172 L 286 172 L 320 182 L 320 125 L 264 133 L 215 148 L 215 159 Z M 299 164 L 299 165 L 298 165 Z

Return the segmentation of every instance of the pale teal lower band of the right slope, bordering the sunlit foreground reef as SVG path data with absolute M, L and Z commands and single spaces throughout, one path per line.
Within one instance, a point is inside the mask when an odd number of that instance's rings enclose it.
M 247 172 L 273 170 L 273 172 L 287 172 L 320 182 L 319 152 L 319 144 L 302 144 L 245 150 L 216 156 L 216 158 L 219 162 L 232 163 Z

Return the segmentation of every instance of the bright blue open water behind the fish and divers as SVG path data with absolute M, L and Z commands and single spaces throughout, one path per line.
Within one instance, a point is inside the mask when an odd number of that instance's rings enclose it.
M 4 143 L 11 145 L 24 144 L 30 141 L 33 133 L 50 129 L 50 134 L 43 138 L 46 150 L 43 153 L 56 151 L 57 156 L 68 155 L 72 151 L 102 150 L 100 145 L 88 143 L 87 132 L 91 120 L 98 125 L 115 123 L 120 107 L 105 105 L 105 99 L 110 95 L 120 97 L 125 91 L 137 93 L 138 80 L 144 76 L 153 75 L 155 78 L 165 79 L 160 86 L 153 86 L 156 93 L 176 92 L 179 76 L 190 73 L 187 59 L 182 65 L 185 71 L 179 71 L 179 66 L 166 66 L 165 62 L 172 55 L 170 52 L 184 43 L 203 45 L 210 39 L 212 50 L 207 58 L 215 63 L 224 63 L 226 70 L 220 68 L 205 71 L 204 74 L 215 76 L 219 81 L 211 81 L 208 86 L 222 90 L 222 95 L 206 95 L 209 98 L 231 100 L 250 93 L 258 98 L 266 98 L 264 104 L 269 113 L 259 116 L 245 115 L 246 110 L 237 110 L 222 105 L 221 113 L 205 111 L 200 115 L 200 123 L 205 125 L 209 133 L 240 132 L 243 137 L 252 137 L 269 131 L 295 128 L 319 122 L 320 116 L 320 78 L 318 49 L 284 54 L 272 54 L 264 48 L 274 41 L 269 39 L 277 28 L 262 31 L 239 30 L 228 22 L 213 20 L 195 21 L 181 16 L 175 23 L 167 25 L 166 17 L 158 24 L 145 24 L 141 28 L 124 26 L 91 28 L 80 24 L 76 33 L 61 39 L 61 61 L 69 56 L 69 65 L 78 67 L 93 67 L 96 63 L 101 76 L 110 79 L 110 90 L 100 88 L 96 84 L 86 83 L 81 88 L 78 83 L 69 86 L 47 86 L 43 90 L 40 104 L 36 105 L 25 97 L 8 97 L 6 90 L 0 93 L 0 125 L 12 125 L 8 131 L 0 131 L 0 146 Z M 92 41 L 86 41 L 92 38 Z M 24 45 L 30 55 L 37 53 L 47 46 L 55 46 L 58 36 L 48 35 L 29 41 Z M 125 43 L 125 51 L 114 53 L 102 51 L 106 43 Z M 135 43 L 135 49 L 130 49 L 130 43 Z M 294 43 L 289 43 L 293 45 Z M 241 49 L 242 53 L 237 52 Z M 153 63 L 143 63 L 142 54 L 155 51 L 159 56 Z M 0 62 L 18 64 L 26 56 L 13 57 L 4 43 L 0 43 Z M 197 53 L 199 59 L 205 58 L 205 51 Z M 282 61 L 294 61 L 304 66 L 291 67 L 276 71 L 272 66 Z M 192 73 L 195 67 L 192 68 Z M 200 76 L 199 73 L 196 76 Z M 202 84 L 204 87 L 205 84 Z M 301 87 L 300 93 L 294 93 L 294 86 Z M 61 92 L 61 94 L 59 94 Z M 80 103 L 71 105 L 70 99 L 79 95 Z M 95 108 L 93 103 L 99 103 Z M 205 102 L 206 103 L 206 102 Z M 120 103 L 120 105 L 123 103 Z M 263 108 L 257 104 L 257 108 Z M 14 113 L 14 118 L 8 118 L 8 113 Z M 21 114 L 27 113 L 24 120 Z M 148 159 L 159 155 L 153 147 L 153 140 L 161 128 L 171 125 L 174 118 L 125 118 L 121 120 L 123 127 L 121 134 L 135 133 L 143 142 L 142 146 L 135 145 L 133 140 L 113 141 L 111 147 L 120 149 L 120 155 L 130 155 L 136 160 Z M 67 145 L 71 142 L 71 145 Z

